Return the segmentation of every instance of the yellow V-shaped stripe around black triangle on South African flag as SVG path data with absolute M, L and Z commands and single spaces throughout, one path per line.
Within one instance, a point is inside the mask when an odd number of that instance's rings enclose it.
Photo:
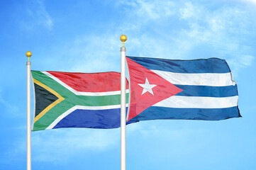
M 51 108 L 53 108 L 54 106 L 56 106 L 58 103 L 60 103 L 61 101 L 63 101 L 65 98 L 63 98 L 62 96 L 60 96 L 60 94 L 57 94 L 56 91 L 50 89 L 50 87 L 46 86 L 45 84 L 42 84 L 40 81 L 33 79 L 35 84 L 38 84 L 39 86 L 43 87 L 44 89 L 50 91 L 52 94 L 54 94 L 55 96 L 57 96 L 57 101 L 51 103 L 49 106 L 47 106 L 43 111 L 41 111 L 41 113 L 39 113 L 37 116 L 35 116 L 35 120 L 34 123 L 36 121 L 38 121 L 40 118 L 42 118 L 43 115 L 45 115 L 46 112 L 48 112 Z

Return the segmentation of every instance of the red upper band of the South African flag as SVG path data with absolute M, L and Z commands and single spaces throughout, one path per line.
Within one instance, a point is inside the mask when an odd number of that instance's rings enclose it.
M 72 89 L 79 92 L 106 92 L 120 91 L 120 77 L 118 72 L 103 73 L 71 73 L 71 72 L 48 72 Z M 128 81 L 126 79 L 126 89 Z

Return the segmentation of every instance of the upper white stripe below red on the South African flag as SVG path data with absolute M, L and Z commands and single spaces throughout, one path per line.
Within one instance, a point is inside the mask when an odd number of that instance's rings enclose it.
M 54 79 L 57 81 L 59 84 L 64 86 L 66 89 L 69 89 L 69 91 L 72 91 L 72 93 L 80 96 L 108 96 L 108 95 L 116 95 L 116 94 L 121 94 L 121 91 L 106 91 L 106 92 L 80 92 L 72 89 L 72 87 L 68 86 L 65 84 L 63 81 L 58 79 L 57 77 L 53 76 L 49 72 L 42 72 L 43 74 L 47 75 L 48 77 Z M 129 90 L 126 89 L 126 94 L 129 93 Z

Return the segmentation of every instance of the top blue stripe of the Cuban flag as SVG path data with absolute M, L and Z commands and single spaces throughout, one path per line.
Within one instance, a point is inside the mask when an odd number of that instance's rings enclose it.
M 165 72 L 176 73 L 228 73 L 230 69 L 226 60 L 218 58 L 201 60 L 166 60 L 146 57 L 130 57 L 130 60 L 146 67 Z

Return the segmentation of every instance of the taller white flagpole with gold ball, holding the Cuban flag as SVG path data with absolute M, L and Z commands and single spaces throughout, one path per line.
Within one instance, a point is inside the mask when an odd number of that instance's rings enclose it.
M 126 35 L 121 35 L 121 170 L 126 170 Z

